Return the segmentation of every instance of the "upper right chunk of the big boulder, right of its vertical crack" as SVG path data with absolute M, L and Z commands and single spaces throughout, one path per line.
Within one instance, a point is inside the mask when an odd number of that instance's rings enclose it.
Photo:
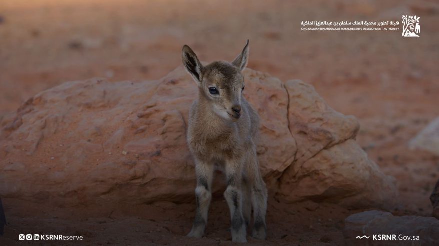
M 354 116 L 332 109 L 314 87 L 300 80 L 285 84 L 288 91 L 288 128 L 296 139 L 295 162 L 303 164 L 322 149 L 352 139 L 359 130 Z

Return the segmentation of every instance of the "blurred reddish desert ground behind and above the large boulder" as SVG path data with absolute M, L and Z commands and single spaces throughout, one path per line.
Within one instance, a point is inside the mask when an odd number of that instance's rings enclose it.
M 419 38 L 300 30 L 302 20 L 403 14 L 421 17 Z M 439 158 L 408 141 L 439 115 L 438 20 L 437 0 L 0 0 L 0 118 L 65 81 L 159 79 L 184 44 L 200 60 L 231 61 L 250 39 L 249 68 L 311 83 L 355 115 L 357 141 L 396 177 L 408 212 L 427 215 Z

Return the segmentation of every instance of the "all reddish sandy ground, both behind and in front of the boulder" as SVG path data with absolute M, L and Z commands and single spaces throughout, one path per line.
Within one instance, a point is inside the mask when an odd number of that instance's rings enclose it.
M 400 21 L 408 13 L 421 16 L 420 38 L 401 37 L 400 31 L 300 30 L 302 20 Z M 183 44 L 201 60 L 232 60 L 250 39 L 250 68 L 307 81 L 334 109 L 359 119 L 357 141 L 398 183 L 394 214 L 429 216 L 439 157 L 409 149 L 408 141 L 439 115 L 437 20 L 433 0 L 2 0 L 0 117 L 64 81 L 157 79 L 181 64 Z M 28 232 L 83 235 L 81 243 L 90 245 L 231 244 L 220 194 L 201 240 L 184 237 L 195 204 L 121 204 L 112 210 L 4 205 L 10 224 L 0 238 L 5 245 L 22 245 L 18 234 Z M 342 244 L 343 220 L 354 212 L 270 199 L 267 241 L 250 241 Z

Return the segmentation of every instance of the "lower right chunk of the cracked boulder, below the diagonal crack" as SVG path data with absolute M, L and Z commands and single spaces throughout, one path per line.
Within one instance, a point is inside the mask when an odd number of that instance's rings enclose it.
M 354 140 L 324 149 L 302 165 L 292 164 L 280 180 L 287 201 L 311 199 L 352 207 L 391 208 L 394 184 Z M 340 197 L 344 197 L 340 199 Z

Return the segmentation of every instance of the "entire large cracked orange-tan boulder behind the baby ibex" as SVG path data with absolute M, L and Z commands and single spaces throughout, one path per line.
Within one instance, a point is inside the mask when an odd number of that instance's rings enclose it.
M 305 82 L 244 75 L 244 95 L 261 117 L 257 152 L 271 196 L 390 204 L 394 181 L 353 140 L 353 116 L 330 108 Z M 181 67 L 157 81 L 96 78 L 37 94 L 0 121 L 0 196 L 55 205 L 192 200 L 185 134 L 196 96 Z

